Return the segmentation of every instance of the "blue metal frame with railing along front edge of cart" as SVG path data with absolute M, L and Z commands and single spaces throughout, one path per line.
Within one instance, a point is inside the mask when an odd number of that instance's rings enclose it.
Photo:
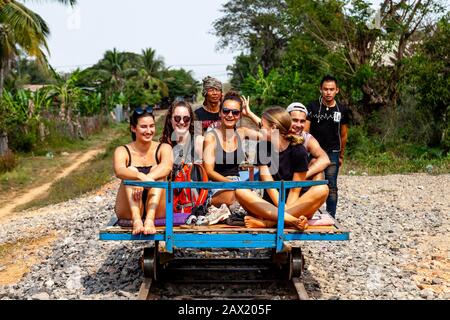
M 286 189 L 311 187 L 327 184 L 328 181 L 239 181 L 239 182 L 142 182 L 125 180 L 124 184 L 145 188 L 163 188 L 166 190 L 166 228 L 164 234 L 132 235 L 131 233 L 100 233 L 100 240 L 143 240 L 165 241 L 166 251 L 173 248 L 275 248 L 283 249 L 284 241 L 343 241 L 349 239 L 348 232 L 342 233 L 284 233 L 284 208 Z M 173 231 L 173 189 L 278 189 L 279 206 L 276 233 L 174 233 Z

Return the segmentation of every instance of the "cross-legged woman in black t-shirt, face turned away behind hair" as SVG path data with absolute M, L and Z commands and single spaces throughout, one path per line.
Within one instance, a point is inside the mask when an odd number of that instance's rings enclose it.
M 292 119 L 281 107 L 271 107 L 264 111 L 261 121 L 263 140 L 257 146 L 256 164 L 261 181 L 304 181 L 308 171 L 308 154 L 303 146 L 303 138 L 291 134 Z M 304 194 L 301 188 L 286 190 L 285 224 L 299 230 L 307 227 L 308 218 L 320 207 L 328 196 L 326 185 L 320 199 Z M 236 190 L 239 203 L 251 215 L 245 217 L 248 228 L 271 228 L 278 219 L 277 189 L 267 189 L 261 199 L 251 190 Z

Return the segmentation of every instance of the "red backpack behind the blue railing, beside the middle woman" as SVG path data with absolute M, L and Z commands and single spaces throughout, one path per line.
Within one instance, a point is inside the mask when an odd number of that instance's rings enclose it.
M 201 164 L 184 163 L 177 166 L 172 175 L 173 182 L 208 181 L 208 175 Z M 173 212 L 191 213 L 194 207 L 205 203 L 207 189 L 173 189 Z

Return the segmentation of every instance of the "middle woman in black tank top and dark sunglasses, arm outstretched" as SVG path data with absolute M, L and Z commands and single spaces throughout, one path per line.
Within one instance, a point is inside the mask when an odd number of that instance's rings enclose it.
M 243 98 L 238 93 L 228 92 L 220 104 L 220 127 L 205 135 L 203 165 L 212 181 L 239 181 L 239 165 L 245 160 L 242 141 L 262 137 L 255 130 L 236 127 L 241 119 L 243 103 Z M 216 207 L 223 203 L 229 206 L 236 200 L 234 190 L 212 189 L 211 196 L 211 204 Z

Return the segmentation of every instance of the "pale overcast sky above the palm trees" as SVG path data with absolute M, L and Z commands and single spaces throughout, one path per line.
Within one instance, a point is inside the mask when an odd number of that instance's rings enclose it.
M 238 52 L 216 51 L 212 23 L 226 0 L 78 0 L 70 9 L 51 1 L 27 1 L 51 31 L 50 64 L 58 71 L 86 68 L 106 50 L 140 53 L 151 47 L 166 66 L 227 79 Z

